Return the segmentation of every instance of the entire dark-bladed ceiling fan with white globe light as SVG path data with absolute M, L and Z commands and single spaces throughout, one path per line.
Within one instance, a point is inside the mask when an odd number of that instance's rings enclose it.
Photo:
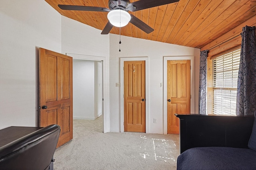
M 130 0 L 109 0 L 108 8 L 95 7 L 95 6 L 76 6 L 76 5 L 58 5 L 62 10 L 76 10 L 76 11 L 96 11 L 96 12 L 109 12 L 108 23 L 102 30 L 101 34 L 108 34 L 113 26 L 123 27 L 129 22 L 140 28 L 146 33 L 154 31 L 149 25 L 136 18 L 134 15 L 129 14 L 128 11 L 135 12 L 152 8 L 155 6 L 161 6 L 178 2 L 179 0 L 138 0 L 130 3 Z

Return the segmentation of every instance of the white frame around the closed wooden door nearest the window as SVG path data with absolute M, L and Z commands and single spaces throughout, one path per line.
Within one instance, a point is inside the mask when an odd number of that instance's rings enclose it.
M 194 56 L 166 56 L 164 57 L 164 134 L 167 134 L 167 61 L 168 60 L 190 60 L 190 113 L 195 113 L 195 69 L 194 69 Z

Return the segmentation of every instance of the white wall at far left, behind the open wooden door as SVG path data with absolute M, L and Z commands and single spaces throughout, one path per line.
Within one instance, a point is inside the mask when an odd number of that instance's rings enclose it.
M 61 16 L 44 0 L 0 0 L 0 129 L 37 126 L 38 47 L 61 52 Z

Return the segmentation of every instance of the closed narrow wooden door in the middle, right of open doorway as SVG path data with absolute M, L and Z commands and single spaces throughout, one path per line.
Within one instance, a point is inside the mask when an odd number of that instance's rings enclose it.
M 124 61 L 124 131 L 146 132 L 145 61 Z

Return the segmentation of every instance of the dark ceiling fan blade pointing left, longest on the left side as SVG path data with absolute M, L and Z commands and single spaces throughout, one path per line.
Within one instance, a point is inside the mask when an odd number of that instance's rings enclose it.
M 94 6 L 58 5 L 62 10 L 109 12 L 108 8 Z

